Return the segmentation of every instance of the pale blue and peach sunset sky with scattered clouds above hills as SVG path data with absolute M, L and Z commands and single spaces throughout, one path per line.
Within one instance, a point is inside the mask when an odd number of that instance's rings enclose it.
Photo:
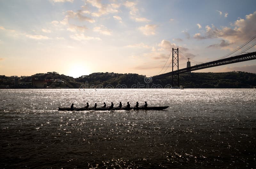
M 0 75 L 153 76 L 172 71 L 172 48 L 180 69 L 187 58 L 191 66 L 217 60 L 256 35 L 255 7 L 255 0 L 0 0 Z M 196 72 L 229 71 L 256 73 L 256 60 Z

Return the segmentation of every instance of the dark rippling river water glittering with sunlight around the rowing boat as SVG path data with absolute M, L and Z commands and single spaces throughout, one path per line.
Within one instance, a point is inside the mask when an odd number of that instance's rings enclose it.
M 255 168 L 252 89 L 0 89 L 1 168 Z M 164 111 L 58 111 L 129 101 Z

